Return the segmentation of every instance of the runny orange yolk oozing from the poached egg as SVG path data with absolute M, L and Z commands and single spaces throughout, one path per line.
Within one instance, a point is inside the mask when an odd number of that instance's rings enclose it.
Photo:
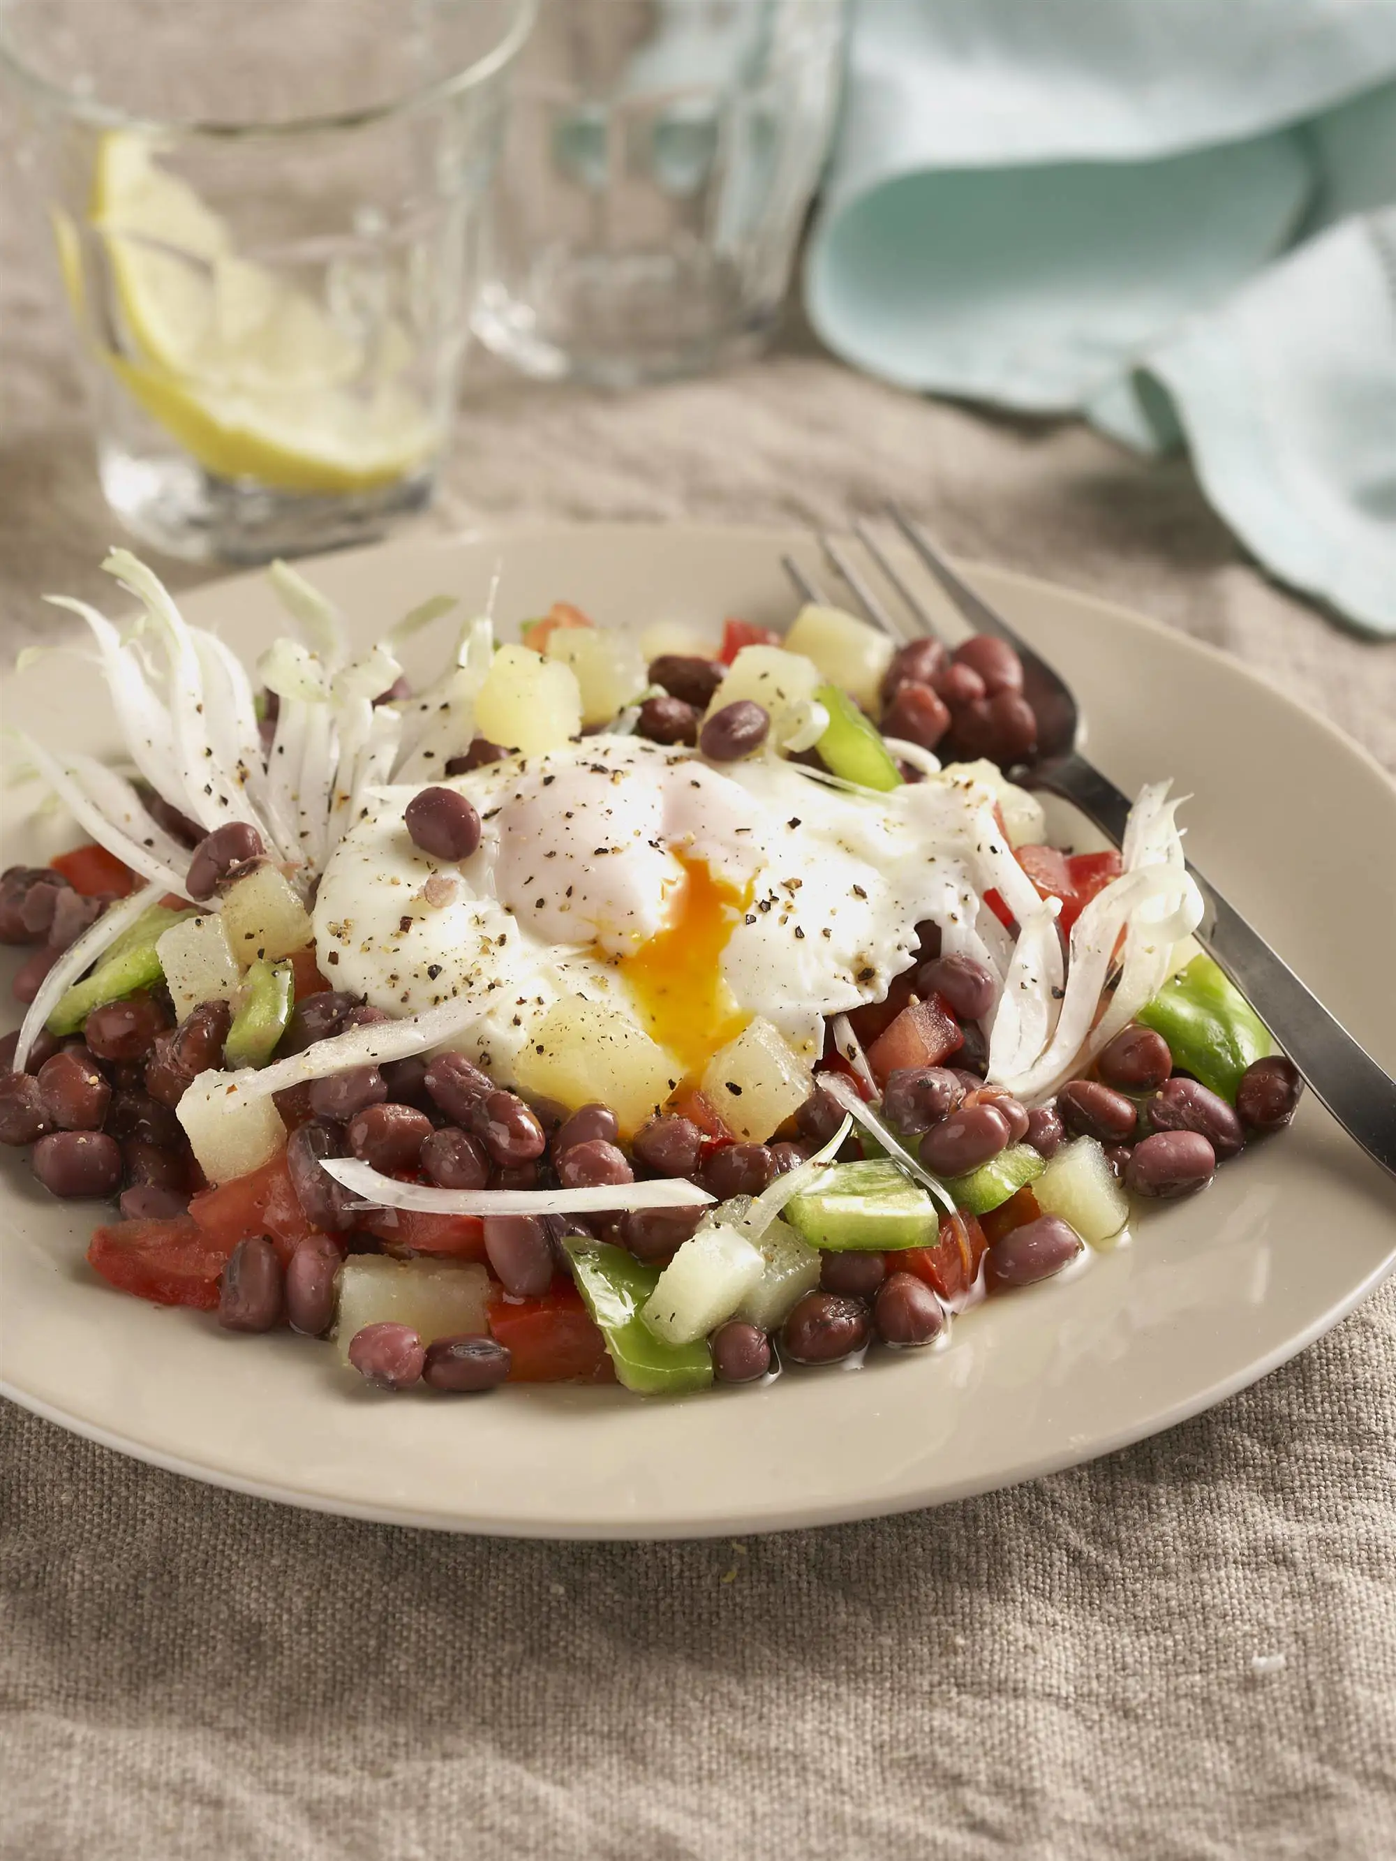
M 722 977 L 722 951 L 750 903 L 750 888 L 713 878 L 702 860 L 685 860 L 674 912 L 663 930 L 622 958 L 650 1035 L 679 1061 L 702 1072 L 713 1053 L 735 1040 L 750 1014 Z

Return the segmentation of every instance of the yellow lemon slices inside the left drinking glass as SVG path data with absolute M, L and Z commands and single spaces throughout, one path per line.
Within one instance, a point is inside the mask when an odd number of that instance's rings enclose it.
M 374 333 L 369 368 L 318 303 L 238 255 L 145 138 L 101 140 L 89 216 L 127 335 L 102 361 L 205 471 L 333 497 L 395 484 L 439 445 L 395 380 L 411 355 L 402 328 Z

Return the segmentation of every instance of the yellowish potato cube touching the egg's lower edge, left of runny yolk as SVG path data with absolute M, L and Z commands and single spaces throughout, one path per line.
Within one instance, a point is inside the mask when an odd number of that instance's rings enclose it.
M 521 1091 L 555 1098 L 568 1111 L 601 1100 L 616 1113 L 624 1135 L 653 1117 L 681 1074 L 672 1053 L 627 1014 L 581 996 L 557 1001 L 514 1061 Z M 806 1087 L 802 1098 L 808 1096 Z

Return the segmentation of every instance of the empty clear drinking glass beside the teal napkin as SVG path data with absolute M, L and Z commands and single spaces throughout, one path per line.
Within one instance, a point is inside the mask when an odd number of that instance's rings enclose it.
M 612 387 L 761 344 L 838 106 L 843 0 L 542 0 L 475 329 Z

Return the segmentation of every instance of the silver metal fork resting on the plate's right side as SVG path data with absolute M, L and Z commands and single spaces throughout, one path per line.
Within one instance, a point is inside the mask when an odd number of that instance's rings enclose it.
M 1018 651 L 1024 664 L 1024 694 L 1037 713 L 1039 726 L 1039 752 L 1031 770 L 1022 778 L 1024 785 L 1061 795 L 1119 845 L 1124 839 L 1130 798 L 1076 748 L 1080 713 L 1067 681 L 1033 651 L 998 609 L 990 607 L 955 573 L 919 523 L 912 523 L 895 504 L 888 506 L 888 515 L 970 627 L 975 633 L 994 633 Z M 940 638 L 925 605 L 877 536 L 866 523 L 858 523 L 856 532 L 864 549 L 905 601 L 908 614 L 914 616 L 914 625 L 908 625 L 882 601 L 838 538 L 823 534 L 819 542 L 825 555 L 852 590 L 867 618 L 899 642 L 923 635 Z M 819 582 L 793 556 L 785 556 L 785 573 L 808 601 L 826 599 Z M 1357 1139 L 1370 1158 L 1396 1174 L 1396 1081 L 1329 1014 L 1260 932 L 1227 903 L 1212 880 L 1191 864 L 1188 871 L 1197 880 L 1204 904 L 1202 923 L 1197 930 L 1199 942 L 1266 1022 L 1314 1096 L 1327 1105 L 1338 1124 L 1349 1137 Z

